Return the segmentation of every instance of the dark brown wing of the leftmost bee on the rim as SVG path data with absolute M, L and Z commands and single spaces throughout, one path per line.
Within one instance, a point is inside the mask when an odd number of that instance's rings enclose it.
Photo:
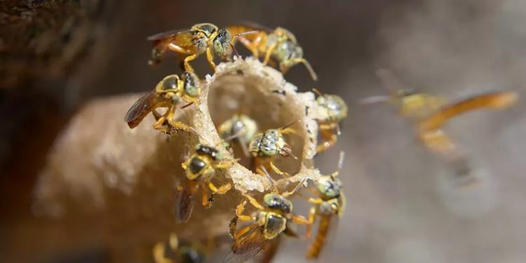
M 163 102 L 163 98 L 158 96 L 155 90 L 150 90 L 139 98 L 126 112 L 124 121 L 130 128 L 135 128 L 151 111 Z

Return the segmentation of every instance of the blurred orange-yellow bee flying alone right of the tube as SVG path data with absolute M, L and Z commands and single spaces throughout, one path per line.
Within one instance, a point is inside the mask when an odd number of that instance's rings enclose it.
M 414 90 L 396 90 L 401 85 L 393 74 L 379 69 L 377 75 L 384 86 L 393 91 L 392 96 L 369 97 L 363 103 L 393 102 L 400 107 L 400 114 L 410 117 L 417 126 L 417 136 L 433 154 L 443 156 L 454 165 L 455 173 L 461 177 L 469 174 L 465 154 L 444 132 L 443 126 L 450 119 L 476 109 L 504 109 L 518 100 L 512 91 L 485 93 L 447 104 L 443 97 L 415 93 Z

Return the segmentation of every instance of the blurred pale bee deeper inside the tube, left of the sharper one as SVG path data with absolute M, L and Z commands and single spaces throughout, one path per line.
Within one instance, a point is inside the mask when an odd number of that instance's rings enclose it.
M 245 156 L 248 156 L 248 143 L 257 133 L 257 123 L 245 114 L 234 114 L 221 124 L 218 132 L 223 140 L 231 138 L 238 142 Z

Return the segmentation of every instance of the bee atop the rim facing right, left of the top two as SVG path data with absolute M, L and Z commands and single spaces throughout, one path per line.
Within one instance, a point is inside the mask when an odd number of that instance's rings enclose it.
M 154 43 L 149 64 L 158 64 L 166 50 L 173 50 L 180 55 L 186 55 L 185 58 L 180 57 L 186 71 L 194 72 L 194 68 L 189 62 L 203 53 L 206 53 L 208 64 L 215 70 L 214 55 L 222 60 L 229 60 L 234 39 L 245 34 L 255 33 L 257 32 L 239 32 L 239 34 L 232 36 L 227 29 L 220 29 L 210 23 L 202 23 L 189 29 L 176 29 L 154 34 L 147 38 Z

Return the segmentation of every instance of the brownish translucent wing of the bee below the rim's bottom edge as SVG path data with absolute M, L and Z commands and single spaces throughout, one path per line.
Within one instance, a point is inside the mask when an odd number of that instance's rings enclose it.
M 236 238 L 232 250 L 224 258 L 223 263 L 245 262 L 255 257 L 259 251 L 267 249 L 270 240 L 263 236 L 259 225 L 251 224 L 248 227 L 250 230 Z

